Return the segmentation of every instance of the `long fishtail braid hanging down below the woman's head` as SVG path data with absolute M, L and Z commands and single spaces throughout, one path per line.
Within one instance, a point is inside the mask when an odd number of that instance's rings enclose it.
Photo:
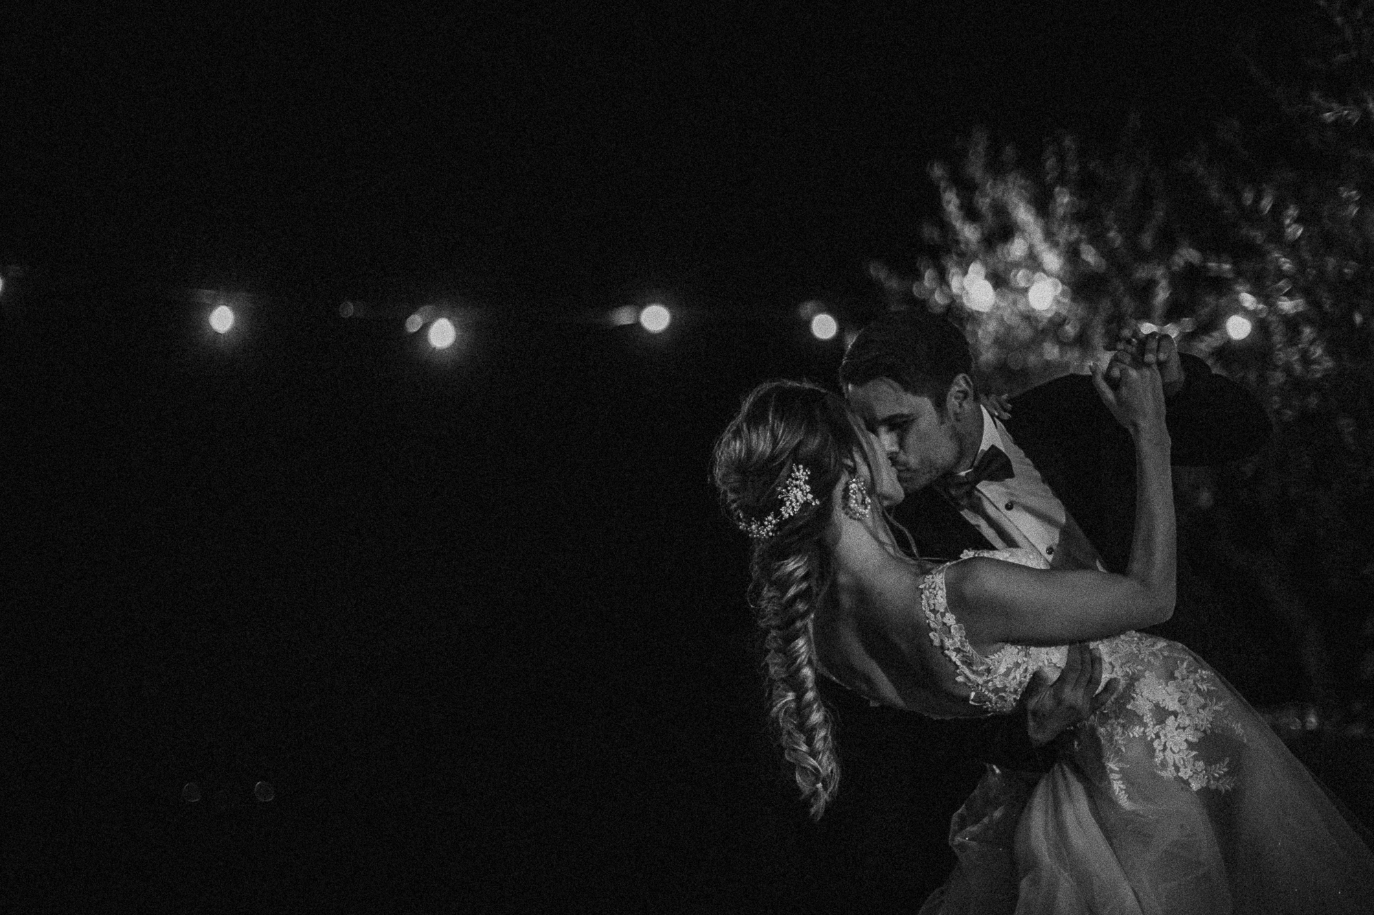
M 840 760 L 830 710 L 816 688 L 812 615 L 818 558 L 812 551 L 754 563 L 758 625 L 764 631 L 768 717 L 793 765 L 802 801 L 819 820 L 840 787 Z

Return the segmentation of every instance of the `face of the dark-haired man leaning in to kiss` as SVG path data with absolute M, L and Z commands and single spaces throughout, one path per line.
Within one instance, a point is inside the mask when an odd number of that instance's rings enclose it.
M 889 378 L 845 389 L 849 405 L 882 444 L 905 493 L 925 489 L 954 471 L 960 447 L 955 423 L 929 397 Z

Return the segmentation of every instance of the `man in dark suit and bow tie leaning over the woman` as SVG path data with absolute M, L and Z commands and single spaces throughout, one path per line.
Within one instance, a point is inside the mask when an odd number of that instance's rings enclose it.
M 1268 416 L 1243 387 L 1184 356 L 1165 334 L 1117 359 L 1157 364 L 1179 466 L 1257 452 Z M 875 433 L 907 497 L 894 510 L 926 558 L 1028 548 L 1055 569 L 1124 573 L 1135 530 L 1135 448 L 1087 375 L 980 405 L 963 334 L 923 310 L 892 312 L 859 332 L 840 365 L 849 404 Z

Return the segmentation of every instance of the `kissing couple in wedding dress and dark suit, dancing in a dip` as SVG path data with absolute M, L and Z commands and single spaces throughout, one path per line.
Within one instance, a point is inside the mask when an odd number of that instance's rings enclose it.
M 760 385 L 713 455 L 813 817 L 840 784 L 824 677 L 927 719 L 1004 716 L 1043 761 L 987 765 L 923 914 L 1371 911 L 1369 831 L 1202 658 L 1140 632 L 1175 609 L 1171 466 L 1259 451 L 1252 396 L 1150 334 L 1003 409 L 921 310 L 866 327 L 840 386 Z

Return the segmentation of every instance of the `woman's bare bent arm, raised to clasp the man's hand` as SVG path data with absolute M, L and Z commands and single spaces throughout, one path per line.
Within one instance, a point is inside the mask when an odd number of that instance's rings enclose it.
M 1135 440 L 1136 512 L 1124 576 L 1040 570 L 974 558 L 945 570 L 949 609 L 974 644 L 1066 644 L 1164 622 L 1173 614 L 1176 548 L 1164 389 L 1153 367 L 1094 367 L 1102 400 Z

